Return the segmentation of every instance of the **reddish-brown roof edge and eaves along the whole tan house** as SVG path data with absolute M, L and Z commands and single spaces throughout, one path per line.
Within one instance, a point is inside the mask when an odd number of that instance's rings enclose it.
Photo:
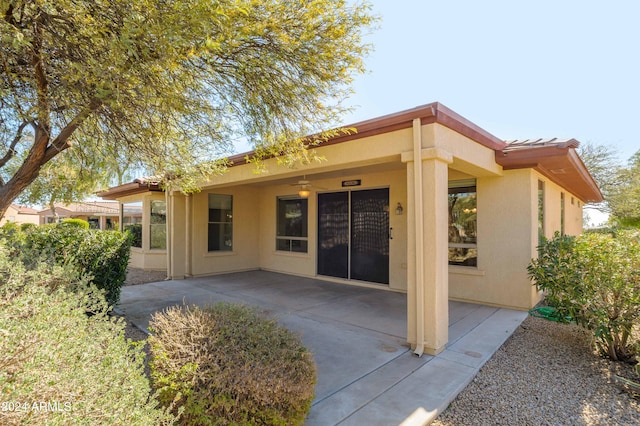
M 496 153 L 496 162 L 506 170 L 534 168 L 585 202 L 600 202 L 603 199 L 593 177 L 575 152 L 575 148 L 579 145 L 575 139 L 527 139 L 506 142 L 438 102 L 343 126 L 347 129 L 355 128 L 357 132 L 330 138 L 315 147 L 409 129 L 413 126 L 413 120 L 418 118 L 423 125 L 438 123 L 493 149 Z M 312 138 L 311 136 L 310 139 Z M 251 151 L 229 157 L 231 167 L 246 164 L 247 158 L 253 154 L 254 152 Z M 100 192 L 98 196 L 115 200 L 119 197 L 154 190 L 161 190 L 157 181 L 136 179 L 134 182 Z

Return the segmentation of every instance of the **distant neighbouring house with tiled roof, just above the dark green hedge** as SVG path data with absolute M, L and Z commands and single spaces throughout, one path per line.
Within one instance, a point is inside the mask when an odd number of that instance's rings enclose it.
M 40 224 L 57 223 L 63 219 L 82 219 L 92 229 L 119 229 L 120 206 L 114 201 L 87 201 L 82 203 L 55 203 L 55 214 L 51 208 L 40 210 Z

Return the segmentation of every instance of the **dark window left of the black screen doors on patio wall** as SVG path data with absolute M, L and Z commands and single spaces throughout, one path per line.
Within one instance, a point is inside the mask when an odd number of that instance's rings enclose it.
M 278 197 L 276 250 L 306 253 L 308 247 L 308 200 Z

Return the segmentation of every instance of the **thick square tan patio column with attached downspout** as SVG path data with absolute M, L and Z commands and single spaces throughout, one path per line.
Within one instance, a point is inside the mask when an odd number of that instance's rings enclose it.
M 414 150 L 407 163 L 407 340 L 416 355 L 435 355 L 448 341 L 448 165 L 451 153 L 422 147 L 414 120 Z M 418 158 L 420 161 L 414 161 Z

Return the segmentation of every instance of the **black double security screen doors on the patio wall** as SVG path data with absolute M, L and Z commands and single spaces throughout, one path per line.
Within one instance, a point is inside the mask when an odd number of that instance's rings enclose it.
M 389 283 L 389 189 L 318 194 L 318 274 Z

